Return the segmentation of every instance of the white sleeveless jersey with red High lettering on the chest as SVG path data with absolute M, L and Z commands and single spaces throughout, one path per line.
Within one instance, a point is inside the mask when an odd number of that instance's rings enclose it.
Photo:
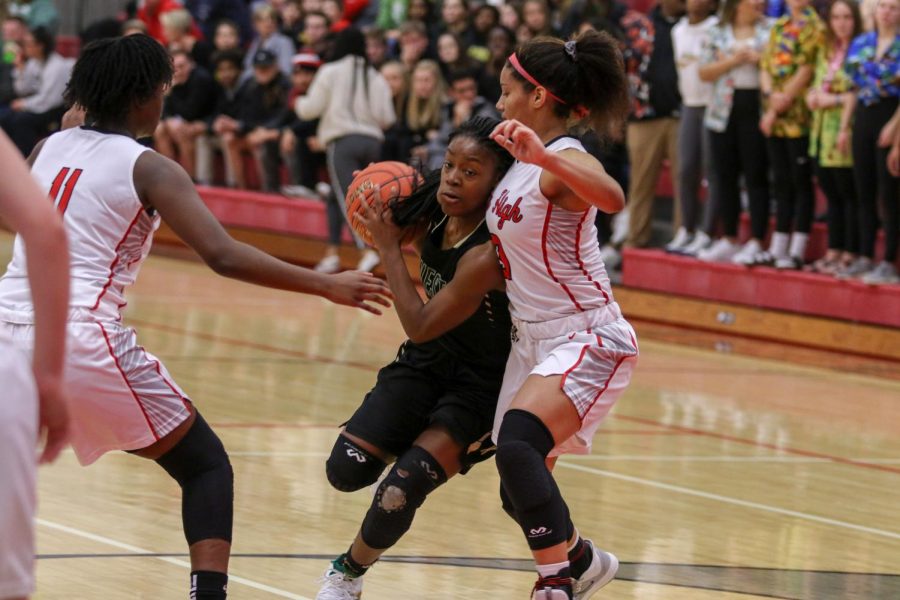
M 572 137 L 547 145 L 552 152 L 584 151 Z M 541 193 L 542 169 L 516 161 L 488 205 L 491 238 L 506 276 L 510 313 L 529 322 L 549 321 L 613 301 L 600 257 L 593 206 L 572 212 Z

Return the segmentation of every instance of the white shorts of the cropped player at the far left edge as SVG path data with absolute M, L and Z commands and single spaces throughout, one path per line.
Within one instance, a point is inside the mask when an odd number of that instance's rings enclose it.
M 38 400 L 28 356 L 0 331 L 0 598 L 34 590 Z

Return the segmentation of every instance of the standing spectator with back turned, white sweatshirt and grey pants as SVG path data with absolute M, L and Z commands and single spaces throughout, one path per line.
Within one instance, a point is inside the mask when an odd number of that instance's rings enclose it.
M 319 69 L 309 93 L 297 99 L 296 111 L 301 119 L 320 119 L 318 138 L 327 149 L 333 194 L 327 213 L 329 247 L 316 269 L 335 272 L 340 269 L 344 198 L 353 172 L 379 160 L 384 131 L 396 120 L 391 90 L 368 64 L 365 37 L 358 29 L 338 33 L 330 62 Z M 359 240 L 357 247 L 362 247 Z M 357 268 L 370 271 L 379 261 L 374 250 L 366 250 Z

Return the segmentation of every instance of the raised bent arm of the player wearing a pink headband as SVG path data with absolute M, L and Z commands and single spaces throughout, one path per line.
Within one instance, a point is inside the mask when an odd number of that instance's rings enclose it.
M 622 186 L 587 152 L 574 148 L 550 152 L 534 130 L 516 120 L 497 125 L 491 138 L 517 160 L 543 169 L 541 192 L 554 204 L 576 211 L 593 205 L 605 213 L 625 207 Z

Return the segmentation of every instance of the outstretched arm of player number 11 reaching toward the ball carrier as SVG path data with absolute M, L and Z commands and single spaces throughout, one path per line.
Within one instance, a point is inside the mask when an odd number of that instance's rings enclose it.
M 325 275 L 304 269 L 238 242 L 209 211 L 187 173 L 175 162 L 145 152 L 134 171 L 141 199 L 216 273 L 265 287 L 315 294 L 380 315 L 376 305 L 390 306 L 390 291 L 371 273 L 347 271 Z

